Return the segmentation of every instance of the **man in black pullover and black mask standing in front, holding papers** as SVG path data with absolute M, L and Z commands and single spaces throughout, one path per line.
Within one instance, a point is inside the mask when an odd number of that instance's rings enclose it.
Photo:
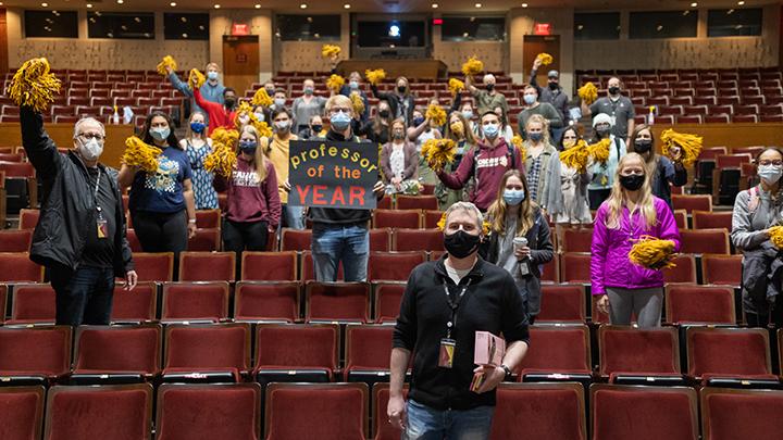
M 486 439 L 492 429 L 495 388 L 527 351 L 522 297 L 502 267 L 478 256 L 483 216 L 472 203 L 446 211 L 447 256 L 418 266 L 406 287 L 390 360 L 389 423 L 403 439 Z M 500 366 L 473 364 L 475 332 L 502 334 Z M 410 355 L 409 400 L 402 382 Z M 474 392 L 474 375 L 483 382 Z

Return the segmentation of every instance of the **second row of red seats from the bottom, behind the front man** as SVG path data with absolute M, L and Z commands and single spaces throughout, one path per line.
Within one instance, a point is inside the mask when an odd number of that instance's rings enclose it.
M 0 376 L 12 384 L 20 376 L 69 384 L 86 374 L 102 382 L 112 381 L 103 375 L 121 374 L 138 381 L 197 379 L 192 374 L 213 375 L 202 381 L 387 381 L 395 326 L 348 324 L 344 331 L 337 323 L 80 326 L 75 342 L 72 331 L 70 326 L 0 327 Z M 774 389 L 781 376 L 771 367 L 770 342 L 779 351 L 781 337 L 783 330 L 770 341 L 763 328 L 706 325 L 534 325 L 514 373 L 518 381 Z

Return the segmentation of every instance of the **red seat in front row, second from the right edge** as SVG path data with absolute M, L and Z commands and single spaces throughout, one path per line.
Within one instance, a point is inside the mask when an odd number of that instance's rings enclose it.
M 696 391 L 594 384 L 591 420 L 594 439 L 697 440 Z

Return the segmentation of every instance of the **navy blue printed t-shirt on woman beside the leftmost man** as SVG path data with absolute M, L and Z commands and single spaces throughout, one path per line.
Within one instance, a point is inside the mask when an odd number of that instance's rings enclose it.
M 158 172 L 136 173 L 128 201 L 132 211 L 175 213 L 185 209 L 183 181 L 191 178 L 187 153 L 167 147 L 158 156 Z

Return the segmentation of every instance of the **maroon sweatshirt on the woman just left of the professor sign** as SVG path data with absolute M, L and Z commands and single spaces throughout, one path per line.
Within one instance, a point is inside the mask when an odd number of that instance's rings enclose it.
M 217 191 L 228 191 L 228 205 L 225 218 L 236 223 L 266 222 L 277 228 L 281 216 L 277 176 L 272 162 L 266 161 L 266 178 L 258 181 L 253 165 L 237 158 L 237 166 L 231 179 L 215 175 L 214 187 Z

